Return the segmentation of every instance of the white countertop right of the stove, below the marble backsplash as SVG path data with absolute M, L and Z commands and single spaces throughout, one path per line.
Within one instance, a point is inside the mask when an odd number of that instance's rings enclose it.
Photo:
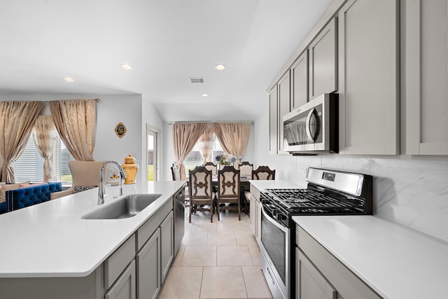
M 293 220 L 384 298 L 447 298 L 448 242 L 377 216 Z

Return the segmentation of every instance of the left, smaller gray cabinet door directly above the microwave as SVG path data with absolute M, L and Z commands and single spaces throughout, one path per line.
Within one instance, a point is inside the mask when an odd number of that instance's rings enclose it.
M 308 50 L 295 60 L 290 71 L 291 111 L 308 102 Z

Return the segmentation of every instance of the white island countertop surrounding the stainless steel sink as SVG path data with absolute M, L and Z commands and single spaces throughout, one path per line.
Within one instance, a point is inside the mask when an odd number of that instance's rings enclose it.
M 151 217 L 183 181 L 137 182 L 124 195 L 160 193 L 134 217 L 93 220 L 98 188 L 0 215 L 0 277 L 85 277 Z M 106 186 L 104 204 L 117 200 L 119 186 Z

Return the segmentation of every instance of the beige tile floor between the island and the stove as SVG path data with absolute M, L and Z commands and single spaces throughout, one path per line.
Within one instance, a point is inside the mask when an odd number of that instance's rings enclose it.
M 158 299 L 272 298 L 260 268 L 260 248 L 246 214 L 197 212 Z

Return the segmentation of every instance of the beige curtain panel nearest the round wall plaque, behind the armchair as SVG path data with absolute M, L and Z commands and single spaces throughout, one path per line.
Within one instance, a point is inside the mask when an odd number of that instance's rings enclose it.
M 49 102 L 57 132 L 77 161 L 94 161 L 96 104 L 95 99 Z

